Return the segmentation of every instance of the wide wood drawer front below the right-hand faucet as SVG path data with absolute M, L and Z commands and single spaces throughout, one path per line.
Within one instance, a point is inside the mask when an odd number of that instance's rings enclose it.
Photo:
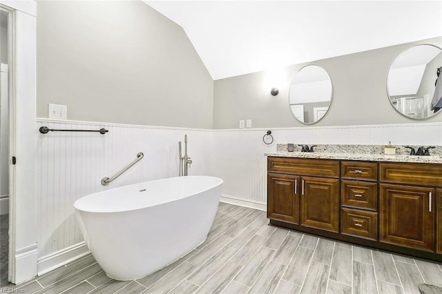
M 442 186 L 441 164 L 379 164 L 381 182 L 419 186 Z

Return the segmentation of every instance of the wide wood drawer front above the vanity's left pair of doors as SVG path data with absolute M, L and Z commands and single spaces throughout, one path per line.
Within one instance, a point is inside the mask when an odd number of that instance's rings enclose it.
M 316 177 L 339 177 L 339 161 L 325 159 L 299 159 L 268 157 L 267 170 Z

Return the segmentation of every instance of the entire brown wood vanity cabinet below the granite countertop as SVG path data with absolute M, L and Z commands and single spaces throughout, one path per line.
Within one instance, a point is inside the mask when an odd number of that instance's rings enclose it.
M 271 224 L 442 262 L 442 164 L 268 157 Z

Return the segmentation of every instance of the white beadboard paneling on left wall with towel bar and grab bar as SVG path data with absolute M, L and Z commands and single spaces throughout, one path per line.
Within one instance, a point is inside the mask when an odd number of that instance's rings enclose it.
M 106 128 L 109 133 L 49 132 L 40 134 L 37 146 L 37 197 L 39 259 L 48 259 L 83 242 L 73 203 L 102 190 L 178 175 L 178 141 L 188 136 L 193 160 L 189 175 L 211 174 L 211 137 L 207 130 L 155 128 L 81 122 L 37 120 L 55 129 Z M 112 177 L 136 159 L 144 158 L 108 186 L 102 177 Z

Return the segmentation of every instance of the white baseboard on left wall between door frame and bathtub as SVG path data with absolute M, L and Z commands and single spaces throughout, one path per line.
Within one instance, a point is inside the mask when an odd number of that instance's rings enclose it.
M 44 273 L 48 273 L 55 268 L 64 266 L 65 264 L 73 262 L 75 259 L 79 259 L 88 253 L 90 253 L 88 246 L 85 242 L 81 242 L 68 248 L 64 248 L 61 251 L 41 257 L 37 263 L 38 275 L 43 275 Z

